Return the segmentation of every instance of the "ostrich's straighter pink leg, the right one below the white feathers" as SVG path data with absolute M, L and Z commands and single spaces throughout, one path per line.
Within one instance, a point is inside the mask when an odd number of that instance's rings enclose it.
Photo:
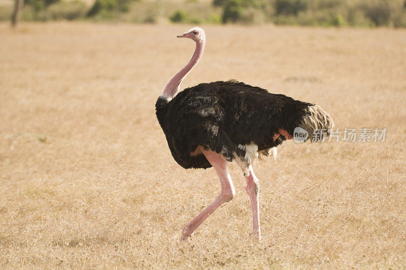
M 261 228 L 259 226 L 259 181 L 255 176 L 252 166 L 241 166 L 243 170 L 245 180 L 247 181 L 247 186 L 245 190 L 251 200 L 252 209 L 252 230 L 254 237 L 261 240 Z

